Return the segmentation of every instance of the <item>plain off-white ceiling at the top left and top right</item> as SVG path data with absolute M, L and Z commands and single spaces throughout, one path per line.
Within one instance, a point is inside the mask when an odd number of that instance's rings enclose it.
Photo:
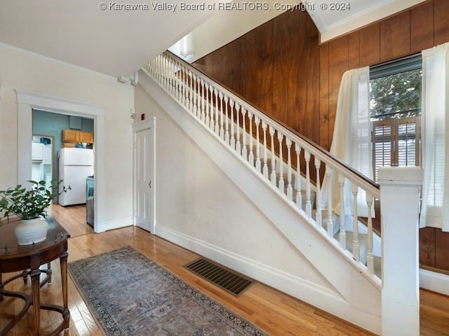
M 208 4 L 229 0 L 183 2 L 204 3 L 197 10 L 182 10 L 180 1 L 119 1 L 0 0 L 0 43 L 109 76 L 130 76 L 211 18 L 215 12 L 207 10 Z M 326 41 L 422 1 L 350 0 L 349 7 L 331 10 L 336 1 L 308 0 L 303 8 Z M 271 10 L 274 1 L 269 3 Z M 126 4 L 136 9 L 119 7 Z

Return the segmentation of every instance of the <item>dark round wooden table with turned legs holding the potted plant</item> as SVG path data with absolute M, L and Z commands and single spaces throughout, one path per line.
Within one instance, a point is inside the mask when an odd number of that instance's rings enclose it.
M 46 218 L 48 231 L 46 240 L 29 245 L 18 245 L 14 234 L 15 225 L 18 219 L 3 220 L 0 223 L 0 300 L 4 296 L 19 297 L 25 301 L 25 305 L 18 315 L 1 330 L 1 336 L 8 333 L 13 326 L 18 323 L 29 307 L 33 306 L 34 311 L 34 334 L 40 334 L 40 309 L 58 311 L 62 314 L 62 323 L 48 335 L 58 335 L 62 330 L 69 328 L 69 309 L 67 305 L 67 239 L 70 235 L 51 216 Z M 62 304 L 43 304 L 40 302 L 40 289 L 46 283 L 51 282 L 50 262 L 60 259 L 61 283 L 62 283 Z M 40 269 L 43 264 L 47 264 L 47 269 Z M 1 274 L 9 272 L 19 272 L 10 279 L 2 281 Z M 45 279 L 40 281 L 41 273 L 46 273 Z M 27 281 L 31 278 L 31 294 L 12 292 L 5 289 L 7 283 L 22 277 Z

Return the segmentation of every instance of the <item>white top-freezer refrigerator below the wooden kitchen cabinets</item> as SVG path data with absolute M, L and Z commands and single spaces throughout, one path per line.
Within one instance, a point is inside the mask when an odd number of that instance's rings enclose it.
M 62 207 L 86 203 L 86 178 L 93 175 L 93 150 L 86 148 L 62 148 L 58 153 L 60 185 L 68 188 L 61 193 L 58 202 Z

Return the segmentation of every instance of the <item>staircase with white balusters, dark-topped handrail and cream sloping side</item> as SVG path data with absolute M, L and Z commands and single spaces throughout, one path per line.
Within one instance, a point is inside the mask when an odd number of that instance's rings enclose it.
M 170 52 L 142 72 L 140 85 L 338 293 L 292 295 L 380 333 L 380 187 Z

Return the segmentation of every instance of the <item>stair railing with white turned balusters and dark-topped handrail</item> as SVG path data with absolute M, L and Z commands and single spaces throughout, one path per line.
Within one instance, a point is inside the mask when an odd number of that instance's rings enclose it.
M 164 52 L 142 68 L 186 111 L 215 134 L 241 160 L 250 165 L 284 197 L 286 202 L 307 218 L 323 237 L 330 239 L 342 255 L 356 263 L 361 272 L 380 284 L 375 274 L 373 255 L 373 202 L 380 200 L 380 187 L 346 165 L 320 146 L 286 125 L 270 118 L 245 99 L 215 83 L 201 71 Z M 313 175 L 313 176 L 312 176 Z M 335 183 L 323 183 L 323 179 Z M 351 194 L 353 239 L 347 244 L 347 223 L 340 220 L 334 228 L 333 193 L 340 194 L 339 218 L 347 218 L 344 193 Z M 361 249 L 357 202 L 365 195 L 368 209 L 366 251 Z M 312 197 L 315 195 L 315 197 Z M 314 200 L 313 200 L 314 198 Z M 350 217 L 349 217 L 350 218 Z M 340 229 L 340 230 L 338 230 Z M 340 231 L 338 241 L 335 231 Z M 363 253 L 363 255 L 362 255 Z

